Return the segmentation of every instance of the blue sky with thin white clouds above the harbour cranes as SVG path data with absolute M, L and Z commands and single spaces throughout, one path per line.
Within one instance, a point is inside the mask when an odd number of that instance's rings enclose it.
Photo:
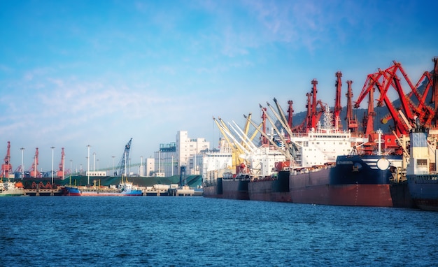
M 131 162 L 177 131 L 218 147 L 213 117 L 260 122 L 274 97 L 306 110 L 311 80 L 334 105 L 335 76 L 400 62 L 414 83 L 438 56 L 437 1 L 0 0 L 0 156 L 24 169 Z M 341 100 L 342 106 L 346 99 Z M 363 102 L 361 108 L 367 103 Z M 3 147 L 3 148 L 1 148 Z M 55 147 L 51 149 L 50 147 Z M 95 153 L 93 158 L 92 154 Z

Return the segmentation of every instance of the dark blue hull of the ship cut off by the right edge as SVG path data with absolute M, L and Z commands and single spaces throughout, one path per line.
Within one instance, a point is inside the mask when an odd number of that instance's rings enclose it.
M 412 199 L 421 210 L 438 211 L 437 175 L 407 175 Z

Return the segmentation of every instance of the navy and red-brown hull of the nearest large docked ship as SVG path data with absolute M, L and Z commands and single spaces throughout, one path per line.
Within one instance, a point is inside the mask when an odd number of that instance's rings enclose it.
M 392 185 L 390 160 L 398 156 L 339 156 L 337 165 L 290 175 L 294 203 L 411 208 L 406 185 Z

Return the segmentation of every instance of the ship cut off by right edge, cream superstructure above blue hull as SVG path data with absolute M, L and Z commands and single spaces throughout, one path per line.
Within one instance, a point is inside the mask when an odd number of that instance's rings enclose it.
M 437 141 L 428 142 L 429 131 L 425 128 L 411 129 L 407 181 L 418 208 L 438 211 Z

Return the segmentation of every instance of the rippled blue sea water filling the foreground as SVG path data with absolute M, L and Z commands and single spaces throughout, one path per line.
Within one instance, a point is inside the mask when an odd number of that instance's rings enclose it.
M 0 266 L 433 266 L 438 212 L 206 199 L 0 199 Z

